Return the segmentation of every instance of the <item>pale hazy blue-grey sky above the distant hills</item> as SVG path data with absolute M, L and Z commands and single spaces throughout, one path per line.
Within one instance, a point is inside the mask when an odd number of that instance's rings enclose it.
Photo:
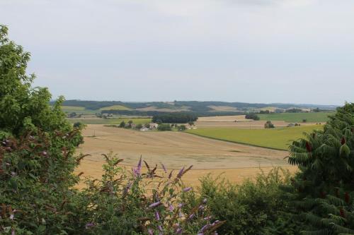
M 353 0 L 0 0 L 67 100 L 354 102 Z

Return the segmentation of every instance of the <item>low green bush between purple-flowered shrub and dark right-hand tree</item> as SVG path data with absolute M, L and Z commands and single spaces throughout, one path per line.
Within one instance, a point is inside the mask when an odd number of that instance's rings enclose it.
M 201 179 L 200 195 L 189 200 L 207 198 L 212 215 L 226 221 L 220 234 L 296 234 L 297 223 L 284 212 L 291 205 L 282 200 L 279 188 L 289 180 L 289 172 L 280 168 L 241 185 L 207 176 Z

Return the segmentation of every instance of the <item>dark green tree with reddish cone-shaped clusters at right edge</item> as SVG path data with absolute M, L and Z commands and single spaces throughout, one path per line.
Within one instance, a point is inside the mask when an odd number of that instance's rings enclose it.
M 354 104 L 329 118 L 290 145 L 289 163 L 300 171 L 283 188 L 308 225 L 304 234 L 354 234 Z

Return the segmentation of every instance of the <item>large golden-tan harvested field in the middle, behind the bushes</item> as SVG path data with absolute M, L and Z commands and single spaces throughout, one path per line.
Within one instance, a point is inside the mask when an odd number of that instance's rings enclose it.
M 96 135 L 92 137 L 93 133 Z M 202 175 L 225 172 L 227 179 L 240 181 L 254 176 L 258 167 L 287 166 L 286 151 L 270 150 L 221 140 L 202 138 L 180 132 L 139 132 L 103 125 L 88 125 L 84 130 L 85 143 L 78 152 L 91 154 L 77 171 L 85 175 L 101 176 L 102 153 L 110 150 L 125 159 L 128 167 L 142 157 L 150 164 L 163 162 L 169 169 L 180 169 L 193 164 L 185 181 L 198 182 Z

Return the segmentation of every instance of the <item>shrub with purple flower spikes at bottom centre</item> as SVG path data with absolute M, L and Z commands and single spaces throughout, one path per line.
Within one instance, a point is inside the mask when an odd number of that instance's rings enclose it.
M 112 153 L 104 157 L 102 179 L 88 179 L 79 193 L 76 224 L 86 228 L 85 234 L 207 235 L 224 223 L 210 217 L 207 200 L 188 207 L 184 198 L 193 189 L 185 187 L 181 178 L 191 167 L 174 174 L 162 165 L 158 174 L 157 166 L 140 158 L 137 167 L 125 171 L 122 159 Z

